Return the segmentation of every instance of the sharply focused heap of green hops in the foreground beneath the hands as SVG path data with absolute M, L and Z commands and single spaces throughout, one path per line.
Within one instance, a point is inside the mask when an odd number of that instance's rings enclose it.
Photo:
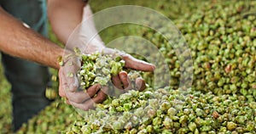
M 84 112 L 72 133 L 245 133 L 256 132 L 256 103 L 243 96 L 215 96 L 170 87 L 129 91 Z

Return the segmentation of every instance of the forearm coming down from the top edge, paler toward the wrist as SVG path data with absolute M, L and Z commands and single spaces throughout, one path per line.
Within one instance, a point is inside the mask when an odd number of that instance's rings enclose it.
M 82 0 L 51 0 L 48 2 L 48 14 L 50 24 L 61 42 L 67 44 L 69 39 L 67 48 L 79 47 L 83 52 L 89 50 L 91 53 L 95 52 L 92 47 L 97 50 L 104 47 L 91 17 L 93 14 L 90 6 Z M 74 33 L 75 28 L 78 29 Z M 71 39 L 69 37 L 72 33 Z M 86 46 L 89 41 L 90 45 Z

